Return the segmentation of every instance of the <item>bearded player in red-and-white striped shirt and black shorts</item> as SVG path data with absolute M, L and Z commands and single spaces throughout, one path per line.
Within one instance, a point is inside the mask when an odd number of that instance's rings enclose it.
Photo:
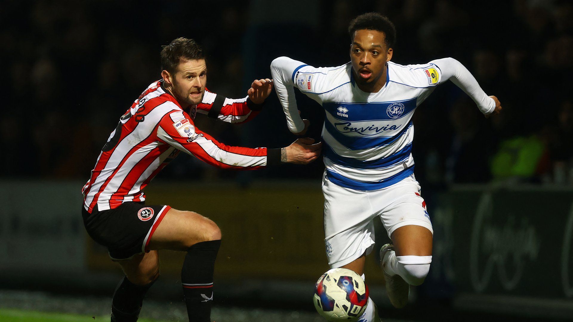
M 205 54 L 186 38 L 164 46 L 161 62 L 163 79 L 149 85 L 120 117 L 82 189 L 88 234 L 108 248 L 111 259 L 125 273 L 113 294 L 112 322 L 138 319 L 143 297 L 159 276 L 159 249 L 187 252 L 181 281 L 189 321 L 211 321 L 213 269 L 221 231 L 213 221 L 192 211 L 144 205 L 144 188 L 180 151 L 234 170 L 281 162 L 306 164 L 320 154 L 321 144 L 312 144 L 308 138 L 282 149 L 217 142 L 195 127 L 195 113 L 230 123 L 249 121 L 272 91 L 272 80 L 253 81 L 242 99 L 210 92 L 205 88 Z

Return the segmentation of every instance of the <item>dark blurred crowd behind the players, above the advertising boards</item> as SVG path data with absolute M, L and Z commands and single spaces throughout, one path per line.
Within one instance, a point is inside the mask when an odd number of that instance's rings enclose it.
M 397 28 L 394 62 L 454 57 L 504 107 L 485 119 L 451 82 L 438 87 L 414 116 L 419 180 L 573 185 L 573 2 L 319 1 L 306 13 L 308 24 L 289 24 L 288 17 L 274 23 L 255 14 L 265 3 L 4 1 L 1 175 L 87 179 L 119 117 L 160 78 L 161 46 L 176 37 L 195 38 L 205 49 L 207 87 L 237 98 L 246 95 L 252 79 L 269 77 L 268 65 L 277 56 L 295 52 L 291 57 L 315 66 L 346 63 L 348 22 L 378 11 Z M 323 113 L 304 97 L 299 105 L 318 139 Z M 229 145 L 279 147 L 295 139 L 276 97 L 257 119 L 231 125 L 198 116 L 197 124 Z M 281 130 L 265 141 L 257 127 L 275 123 Z M 258 139 L 248 139 L 254 133 Z M 293 169 L 253 175 L 314 178 L 322 172 L 320 162 Z M 245 176 L 182 155 L 164 172 L 160 178 Z

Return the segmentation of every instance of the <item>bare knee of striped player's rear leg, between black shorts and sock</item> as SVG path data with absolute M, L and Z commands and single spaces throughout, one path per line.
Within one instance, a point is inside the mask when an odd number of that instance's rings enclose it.
M 159 252 L 137 254 L 129 260 L 117 261 L 127 279 L 136 285 L 147 285 L 159 277 Z

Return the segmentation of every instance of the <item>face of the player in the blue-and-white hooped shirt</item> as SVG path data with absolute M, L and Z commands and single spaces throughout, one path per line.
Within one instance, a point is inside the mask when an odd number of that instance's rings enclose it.
M 384 73 L 392 49 L 386 48 L 385 36 L 378 30 L 356 30 L 350 46 L 350 59 L 356 83 L 374 86 Z

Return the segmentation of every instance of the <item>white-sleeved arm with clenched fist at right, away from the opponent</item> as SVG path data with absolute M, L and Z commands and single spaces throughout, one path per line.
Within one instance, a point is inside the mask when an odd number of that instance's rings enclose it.
M 451 80 L 457 87 L 461 88 L 466 94 L 472 97 L 477 107 L 486 117 L 492 114 L 499 114 L 501 111 L 500 101 L 495 96 L 488 96 L 477 83 L 476 78 L 469 72 L 461 62 L 454 58 L 441 58 L 430 61 L 441 70 L 442 81 Z

